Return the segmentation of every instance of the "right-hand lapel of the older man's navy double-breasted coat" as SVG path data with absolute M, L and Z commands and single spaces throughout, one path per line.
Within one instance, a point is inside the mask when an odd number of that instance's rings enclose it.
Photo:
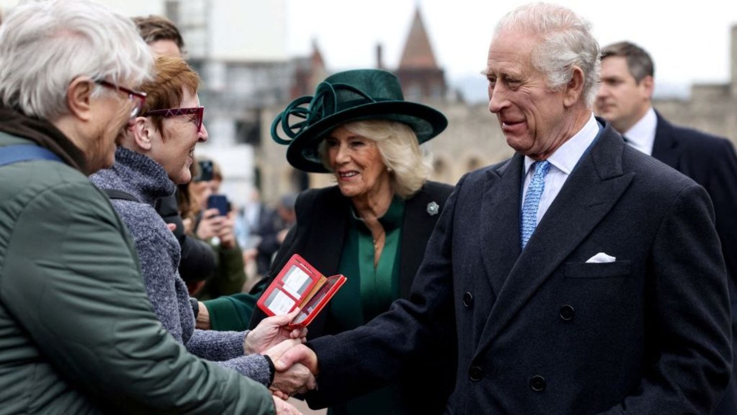
M 497 338 L 540 285 L 607 215 L 629 186 L 634 173 L 625 175 L 622 171 L 623 147 L 624 142 L 607 125 L 590 153 L 581 158 L 579 166 L 565 182 L 506 277 L 486 321 L 477 354 Z M 519 210 L 518 200 L 515 200 L 514 207 Z M 509 206 L 503 208 L 502 212 L 504 209 L 511 210 Z M 499 219 L 495 217 L 494 221 Z M 514 246 L 518 246 L 519 231 L 514 234 L 517 237 L 510 239 L 514 240 Z M 499 235 L 496 237 L 502 240 L 502 245 L 511 244 L 509 239 L 500 238 Z

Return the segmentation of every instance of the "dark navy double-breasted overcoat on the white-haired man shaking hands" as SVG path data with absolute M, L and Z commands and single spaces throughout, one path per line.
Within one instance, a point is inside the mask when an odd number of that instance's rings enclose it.
M 410 301 L 307 343 L 315 394 L 381 386 L 417 355 L 438 364 L 437 344 L 453 339 L 446 414 L 708 415 L 730 377 L 731 333 L 705 190 L 607 125 L 521 250 L 523 163 L 458 182 Z M 600 252 L 615 260 L 587 262 Z

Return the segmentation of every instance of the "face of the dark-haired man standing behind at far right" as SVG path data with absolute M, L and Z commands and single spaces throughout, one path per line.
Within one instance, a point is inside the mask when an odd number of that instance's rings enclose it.
M 626 57 L 606 57 L 601 61 L 596 111 L 615 130 L 626 133 L 650 108 L 652 87 L 652 77 L 645 77 L 639 83 L 635 80 L 629 73 Z

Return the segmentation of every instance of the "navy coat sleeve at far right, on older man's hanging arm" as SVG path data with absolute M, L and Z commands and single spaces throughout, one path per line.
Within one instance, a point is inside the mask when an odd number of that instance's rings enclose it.
M 647 351 L 652 363 L 640 386 L 604 414 L 708 415 L 722 398 L 732 361 L 730 302 L 713 221 L 707 193 L 692 184 L 660 223 L 646 304 L 656 328 L 646 344 L 660 347 Z

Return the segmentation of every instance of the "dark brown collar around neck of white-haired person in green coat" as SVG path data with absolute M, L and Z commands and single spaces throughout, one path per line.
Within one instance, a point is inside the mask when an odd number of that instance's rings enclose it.
M 64 163 L 86 174 L 85 154 L 51 122 L 25 116 L 12 108 L 0 106 L 0 131 L 35 142 L 46 150 L 51 150 Z

